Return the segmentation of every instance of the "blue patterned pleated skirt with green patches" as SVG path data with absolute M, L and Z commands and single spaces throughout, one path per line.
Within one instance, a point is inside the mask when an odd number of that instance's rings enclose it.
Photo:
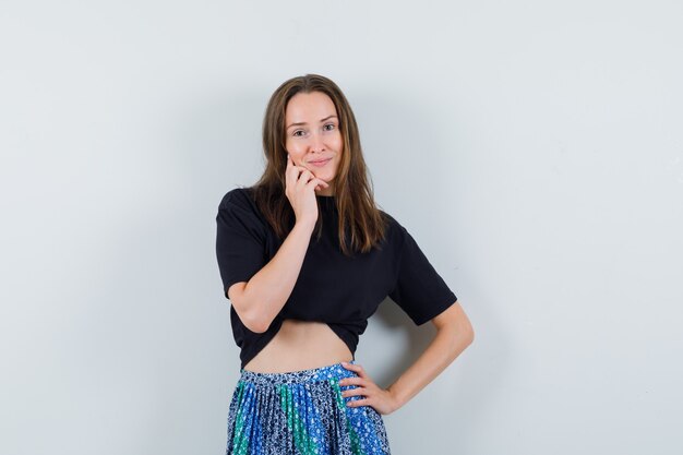
M 352 360 L 350 363 L 356 363 Z M 342 396 L 358 376 L 342 363 L 286 373 L 241 369 L 230 400 L 227 455 L 390 455 L 382 416 Z

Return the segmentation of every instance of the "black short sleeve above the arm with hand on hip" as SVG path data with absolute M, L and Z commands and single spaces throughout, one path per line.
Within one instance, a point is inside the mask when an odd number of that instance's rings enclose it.
M 398 273 L 388 297 L 416 325 L 422 325 L 451 307 L 457 297 L 436 273 L 408 230 L 400 225 L 398 230 Z

